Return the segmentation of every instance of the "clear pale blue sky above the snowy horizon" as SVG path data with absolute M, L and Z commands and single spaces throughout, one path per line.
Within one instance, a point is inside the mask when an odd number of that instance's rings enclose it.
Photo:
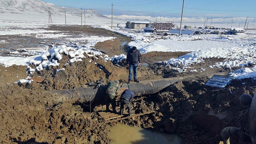
M 43 0 L 56 6 L 96 9 L 101 14 L 180 17 L 183 0 Z M 185 0 L 184 17 L 253 17 L 256 0 Z

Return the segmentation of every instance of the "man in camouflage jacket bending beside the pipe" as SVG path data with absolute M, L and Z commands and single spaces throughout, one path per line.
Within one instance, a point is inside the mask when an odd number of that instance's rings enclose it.
M 109 109 L 109 103 L 112 105 L 112 110 L 116 113 L 116 95 L 120 88 L 120 81 L 111 81 L 106 89 L 105 101 L 106 101 L 106 112 L 111 112 Z

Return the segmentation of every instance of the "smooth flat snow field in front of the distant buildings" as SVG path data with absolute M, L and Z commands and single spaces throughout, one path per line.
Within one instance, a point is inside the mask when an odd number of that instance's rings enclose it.
M 255 43 L 256 35 L 176 35 L 161 36 L 149 32 L 113 28 L 108 26 L 94 26 L 131 37 L 133 41 L 128 46 L 136 46 L 141 53 L 161 52 L 192 52 L 202 49 L 245 47 Z M 138 31 L 138 30 L 137 30 Z M 256 34 L 256 33 L 255 33 Z

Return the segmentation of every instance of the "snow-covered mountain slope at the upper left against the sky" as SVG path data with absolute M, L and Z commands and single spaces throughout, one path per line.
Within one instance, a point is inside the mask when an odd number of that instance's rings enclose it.
M 63 15 L 65 11 L 70 15 L 81 15 L 81 9 L 58 7 L 52 3 L 46 3 L 41 0 L 0 0 L 0 13 L 48 13 L 49 9 L 52 14 L 56 15 Z M 87 9 L 85 15 L 86 17 L 105 17 L 94 9 Z

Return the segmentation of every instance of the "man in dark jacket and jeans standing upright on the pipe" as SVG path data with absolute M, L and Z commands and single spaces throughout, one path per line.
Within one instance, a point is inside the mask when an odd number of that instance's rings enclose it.
M 134 72 L 134 81 L 135 82 L 140 82 L 137 78 L 137 70 L 138 66 L 140 66 L 140 50 L 137 49 L 136 46 L 133 46 L 131 50 L 129 50 L 127 57 L 126 57 L 126 62 L 127 65 L 129 65 L 129 77 L 128 77 L 128 84 L 131 83 L 132 79 L 132 72 Z

